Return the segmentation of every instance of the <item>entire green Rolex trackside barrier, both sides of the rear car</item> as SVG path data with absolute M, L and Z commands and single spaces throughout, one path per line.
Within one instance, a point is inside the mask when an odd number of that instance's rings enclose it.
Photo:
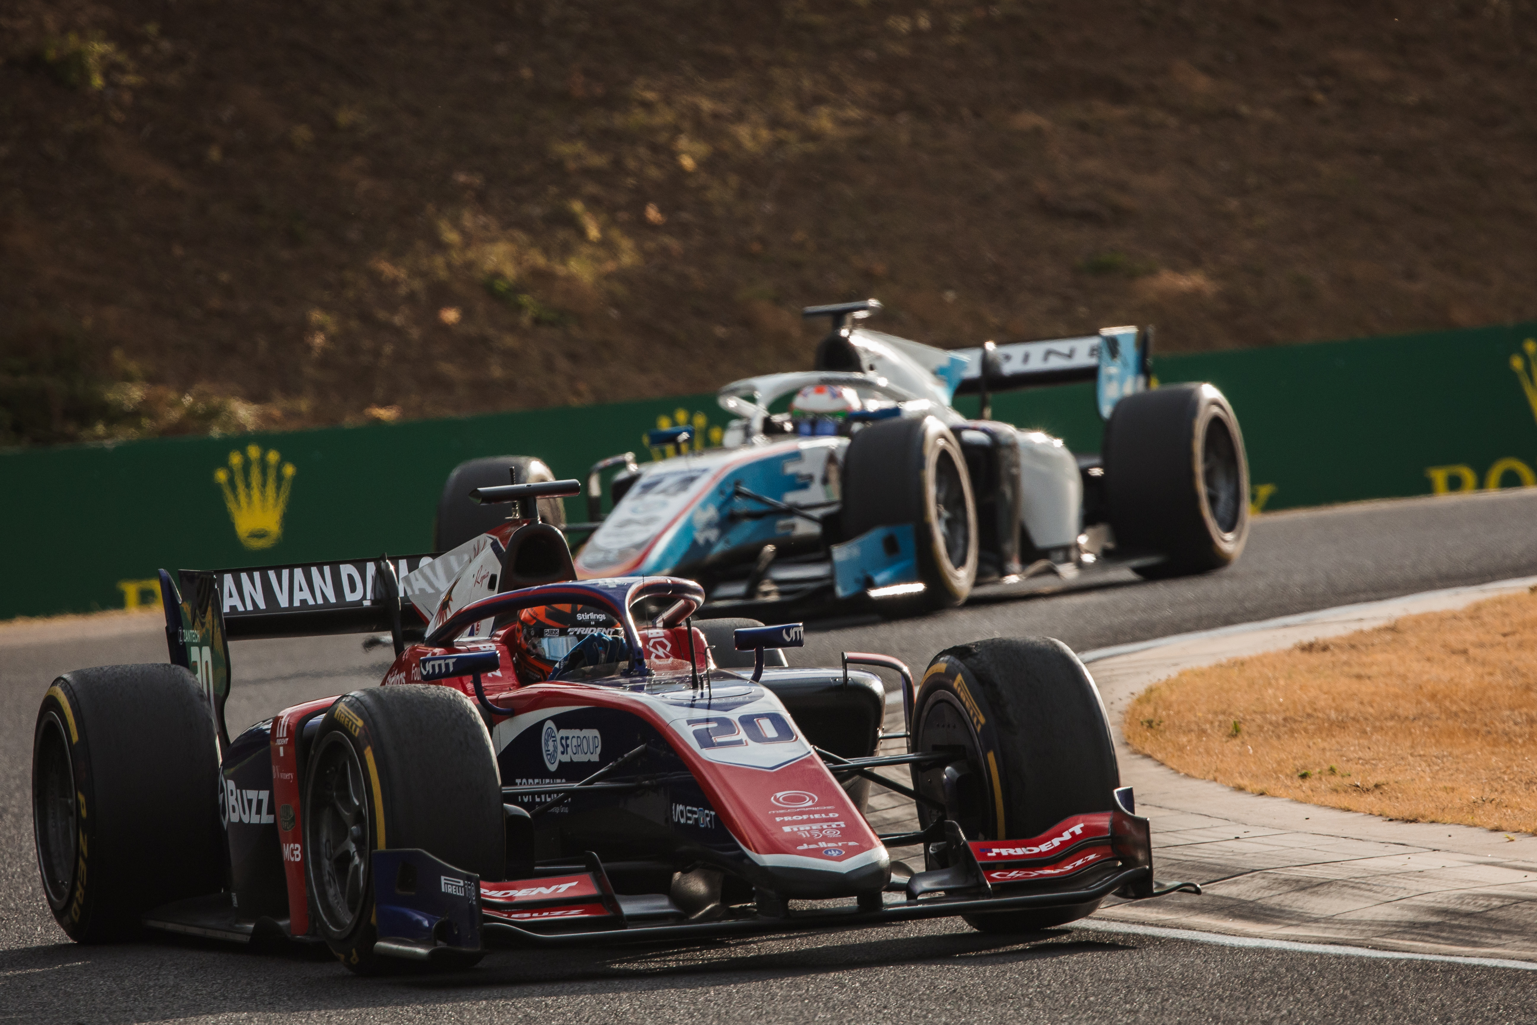
M 1162 383 L 1211 381 L 1243 429 L 1260 510 L 1537 484 L 1537 323 L 1203 355 L 1154 353 Z M 958 406 L 976 413 L 974 398 Z M 1093 386 L 1005 392 L 999 420 L 1099 449 Z M 443 479 L 483 455 L 583 476 L 684 420 L 719 440 L 713 395 L 238 438 L 0 452 L 0 619 L 158 602 L 158 567 L 214 569 L 432 546 Z M 255 479 L 252 470 L 255 469 Z M 569 506 L 584 519 L 581 503 Z

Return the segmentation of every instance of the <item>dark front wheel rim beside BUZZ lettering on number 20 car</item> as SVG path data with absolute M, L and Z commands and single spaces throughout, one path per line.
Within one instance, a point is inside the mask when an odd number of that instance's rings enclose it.
M 321 741 L 304 811 L 306 856 L 326 928 L 352 931 L 367 897 L 369 805 L 358 755 L 340 733 Z

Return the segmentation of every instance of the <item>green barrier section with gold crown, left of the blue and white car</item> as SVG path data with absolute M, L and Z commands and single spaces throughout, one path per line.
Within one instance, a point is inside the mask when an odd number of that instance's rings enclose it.
M 558 475 L 644 432 L 719 440 L 715 395 L 232 438 L 155 438 L 0 452 L 0 530 L 18 582 L 0 619 L 158 604 L 155 570 L 430 552 L 449 472 L 484 455 L 536 455 Z M 252 479 L 255 470 L 255 479 Z M 570 501 L 572 519 L 586 503 Z

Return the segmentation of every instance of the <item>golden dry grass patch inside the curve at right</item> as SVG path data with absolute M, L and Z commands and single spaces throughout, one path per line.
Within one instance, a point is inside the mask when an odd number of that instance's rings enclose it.
M 1183 672 L 1125 735 L 1251 793 L 1537 833 L 1537 589 Z

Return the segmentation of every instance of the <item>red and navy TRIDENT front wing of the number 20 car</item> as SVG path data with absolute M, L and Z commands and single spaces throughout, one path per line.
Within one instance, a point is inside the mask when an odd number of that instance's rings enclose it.
M 603 864 L 590 853 L 583 865 L 552 867 L 530 879 L 483 882 L 421 850 L 375 851 L 380 924 L 375 951 L 453 960 L 478 956 L 487 940 L 609 944 L 998 911 L 1079 908 L 1088 914 L 1111 894 L 1145 899 L 1180 890 L 1200 893 L 1191 882 L 1154 882 L 1148 821 L 1124 810 L 1074 816 L 1025 841 L 968 842 L 954 822 L 939 822 L 902 839 L 918 842 L 918 836 L 944 839 L 950 865 L 893 876 L 879 905 L 862 901 L 778 913 L 730 908 L 715 921 L 687 919 L 666 894 L 616 894 Z M 400 879 L 412 885 L 392 885 Z

